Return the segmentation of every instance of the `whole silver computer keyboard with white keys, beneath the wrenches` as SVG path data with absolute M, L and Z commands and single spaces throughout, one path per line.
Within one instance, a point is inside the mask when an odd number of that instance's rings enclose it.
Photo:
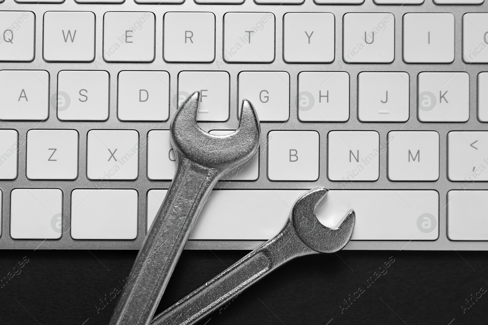
M 4 0 L 0 66 L 1 249 L 139 249 L 197 90 L 204 131 L 247 98 L 262 136 L 187 249 L 254 249 L 318 186 L 346 249 L 488 249 L 483 0 Z

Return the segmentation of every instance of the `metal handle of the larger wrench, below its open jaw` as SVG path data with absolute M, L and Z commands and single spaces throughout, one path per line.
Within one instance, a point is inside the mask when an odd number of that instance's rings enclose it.
M 178 168 L 142 243 L 110 325 L 148 325 L 221 171 L 178 155 Z

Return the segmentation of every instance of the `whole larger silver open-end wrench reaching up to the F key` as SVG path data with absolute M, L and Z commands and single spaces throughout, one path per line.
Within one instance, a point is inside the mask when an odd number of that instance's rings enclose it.
M 212 135 L 197 125 L 200 93 L 189 96 L 171 121 L 177 169 L 163 204 L 122 290 L 111 325 L 146 325 L 156 311 L 183 246 L 215 183 L 257 153 L 260 125 L 251 103 L 242 102 L 239 128 Z

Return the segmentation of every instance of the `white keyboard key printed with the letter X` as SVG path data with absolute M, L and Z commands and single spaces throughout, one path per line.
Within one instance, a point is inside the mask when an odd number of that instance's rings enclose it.
M 86 176 L 93 180 L 133 180 L 138 176 L 139 133 L 135 130 L 90 130 Z

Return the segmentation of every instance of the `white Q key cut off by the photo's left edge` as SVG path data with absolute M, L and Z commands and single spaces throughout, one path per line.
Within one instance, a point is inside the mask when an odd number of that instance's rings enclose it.
M 0 61 L 34 59 L 35 24 L 31 11 L 0 11 Z

